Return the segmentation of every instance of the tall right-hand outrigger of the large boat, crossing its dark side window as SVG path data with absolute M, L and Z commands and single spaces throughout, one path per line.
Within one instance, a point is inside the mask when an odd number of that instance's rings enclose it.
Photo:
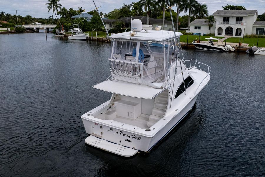
M 175 27 L 174 27 L 174 22 L 173 22 L 173 17 L 172 17 L 172 12 L 171 12 L 171 8 L 172 8 L 172 7 L 173 7 L 173 6 L 170 7 L 170 2 L 169 2 L 169 0 L 168 0 L 168 9 L 169 9 L 169 12 L 170 12 L 171 21 L 172 21 L 172 27 L 173 27 L 173 32 L 174 32 L 174 36 L 175 36 L 176 52 L 178 52 L 178 53 L 176 53 L 177 58 L 176 58 L 176 60 L 175 60 L 175 61 L 176 61 L 175 72 L 176 72 L 176 70 L 177 70 L 177 60 L 179 59 L 180 69 L 181 69 L 181 74 L 182 74 L 182 79 L 183 79 L 183 84 L 184 84 L 184 90 L 185 90 L 184 93 L 185 93 L 185 95 L 186 95 L 187 92 L 186 92 L 186 86 L 185 86 L 185 81 L 184 81 L 184 76 L 183 76 L 183 70 L 182 70 L 182 65 L 181 65 L 180 56 L 179 56 L 179 49 L 178 49 L 178 45 L 177 45 L 177 36 L 176 36 Z M 178 25 L 178 24 L 176 24 L 176 25 Z M 178 50 L 178 51 L 177 51 L 177 50 Z M 185 60 L 184 60 L 184 62 L 185 62 Z M 174 74 L 172 90 L 174 89 L 175 76 L 176 76 L 176 74 Z M 173 96 L 173 94 L 171 94 L 171 101 L 172 101 L 172 96 Z M 171 101 L 170 101 L 170 107 L 171 107 Z

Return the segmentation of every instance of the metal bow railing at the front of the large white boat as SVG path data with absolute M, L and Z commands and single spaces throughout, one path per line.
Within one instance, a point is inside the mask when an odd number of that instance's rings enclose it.
M 198 62 L 197 59 L 185 60 L 185 62 L 186 62 L 186 64 L 190 63 L 190 67 L 188 68 L 188 70 L 190 70 L 192 68 L 196 68 L 196 69 L 199 69 L 199 70 L 204 71 L 204 72 L 207 73 L 207 75 L 203 78 L 201 83 L 198 85 L 198 87 L 197 87 L 197 89 L 196 89 L 196 91 L 194 93 L 194 94 L 196 94 L 198 89 L 199 89 L 199 87 L 203 83 L 203 81 L 208 79 L 208 76 L 210 75 L 212 69 L 211 69 L 210 66 L 208 66 L 208 65 L 206 65 L 204 63 Z

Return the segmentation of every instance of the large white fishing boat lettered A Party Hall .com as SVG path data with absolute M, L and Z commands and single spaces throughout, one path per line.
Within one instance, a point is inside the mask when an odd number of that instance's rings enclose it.
M 81 116 L 87 144 L 126 157 L 149 152 L 188 115 L 210 80 L 208 65 L 184 60 L 180 32 L 151 29 L 134 19 L 130 32 L 110 36 L 111 75 L 93 87 L 112 96 Z

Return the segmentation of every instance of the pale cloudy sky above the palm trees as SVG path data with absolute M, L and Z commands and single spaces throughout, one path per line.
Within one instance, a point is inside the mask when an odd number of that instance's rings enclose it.
M 95 0 L 98 6 L 101 6 L 99 10 L 103 13 L 109 13 L 113 9 L 118 9 L 123 3 L 130 4 L 132 2 L 137 2 L 139 0 Z M 0 12 L 5 12 L 9 14 L 17 14 L 21 16 L 26 16 L 30 14 L 32 17 L 42 17 L 48 18 L 52 15 L 52 12 L 48 13 L 47 5 L 45 5 L 47 0 L 1 0 L 0 1 Z M 245 6 L 248 10 L 258 10 L 258 14 L 263 14 L 265 12 L 265 0 L 198 0 L 199 3 L 207 4 L 209 14 L 213 14 L 216 10 L 221 10 L 222 6 L 226 4 L 230 5 L 240 5 Z M 65 8 L 78 9 L 82 7 L 85 12 L 95 9 L 95 5 L 92 0 L 60 0 L 60 4 Z M 173 7 L 173 10 L 176 8 Z M 180 14 L 185 15 L 184 13 Z

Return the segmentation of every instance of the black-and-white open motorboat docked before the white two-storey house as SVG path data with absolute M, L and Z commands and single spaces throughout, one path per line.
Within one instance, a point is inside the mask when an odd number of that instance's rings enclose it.
M 195 47 L 197 49 L 201 49 L 201 50 L 211 50 L 211 51 L 220 51 L 220 52 L 227 52 L 229 50 L 234 51 L 235 48 L 231 47 L 230 45 L 226 45 L 225 47 L 220 46 L 220 45 L 214 45 L 213 44 L 213 40 L 219 40 L 217 38 L 205 38 L 208 40 L 208 42 L 193 42 L 193 45 L 195 45 Z

